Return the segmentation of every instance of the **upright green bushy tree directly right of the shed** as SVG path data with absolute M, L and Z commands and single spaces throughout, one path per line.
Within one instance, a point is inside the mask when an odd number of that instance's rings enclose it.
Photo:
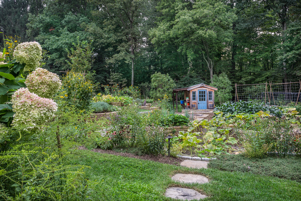
M 212 86 L 216 87 L 218 90 L 215 91 L 215 102 L 219 102 L 223 104 L 229 100 L 231 100 L 231 82 L 226 73 L 221 73 L 219 76 L 213 75 L 213 83 Z

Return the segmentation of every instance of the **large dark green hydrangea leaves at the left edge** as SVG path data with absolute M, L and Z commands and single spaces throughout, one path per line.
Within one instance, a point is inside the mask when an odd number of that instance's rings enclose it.
M 5 49 L 3 50 L 5 55 Z M 0 62 L 5 59 L 0 58 Z M 16 62 L 16 59 L 0 65 L 0 123 L 9 126 L 13 120 L 14 112 L 11 100 L 12 94 L 20 87 L 25 87 L 25 79 L 22 76 L 25 64 Z

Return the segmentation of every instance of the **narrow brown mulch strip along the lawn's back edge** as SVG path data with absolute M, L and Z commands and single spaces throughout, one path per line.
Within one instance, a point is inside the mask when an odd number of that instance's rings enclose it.
M 80 146 L 77 148 L 78 150 L 88 150 L 85 146 Z M 142 160 L 152 160 L 164 164 L 170 164 L 170 165 L 180 165 L 181 162 L 184 161 L 184 159 L 181 158 L 175 158 L 175 157 L 168 157 L 164 155 L 142 155 L 138 156 L 133 153 L 123 153 L 123 152 L 117 152 L 114 150 L 102 150 L 102 149 L 92 149 L 91 151 L 97 152 L 97 153 L 107 153 L 107 154 L 112 154 L 116 156 L 123 156 L 123 157 L 130 157 L 130 158 L 138 158 Z

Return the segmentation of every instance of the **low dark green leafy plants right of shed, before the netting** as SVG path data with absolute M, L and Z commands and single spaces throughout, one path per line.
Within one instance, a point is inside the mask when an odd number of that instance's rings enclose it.
M 223 113 L 247 113 L 255 114 L 259 111 L 269 111 L 270 115 L 282 116 L 282 111 L 278 106 L 270 106 L 265 103 L 257 103 L 254 101 L 239 101 L 232 102 L 228 101 L 214 108 L 214 111 L 222 111 Z

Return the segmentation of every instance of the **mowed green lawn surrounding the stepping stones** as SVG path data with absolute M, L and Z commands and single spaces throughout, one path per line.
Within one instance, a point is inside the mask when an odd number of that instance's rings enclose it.
M 71 164 L 87 165 L 88 186 L 94 200 L 175 200 L 164 196 L 171 186 L 195 189 L 203 200 L 300 200 L 301 184 L 296 181 L 252 173 L 192 169 L 154 161 L 75 150 Z M 176 173 L 207 176 L 206 184 L 183 184 L 171 180 Z M 95 183 L 97 181 L 98 183 Z

